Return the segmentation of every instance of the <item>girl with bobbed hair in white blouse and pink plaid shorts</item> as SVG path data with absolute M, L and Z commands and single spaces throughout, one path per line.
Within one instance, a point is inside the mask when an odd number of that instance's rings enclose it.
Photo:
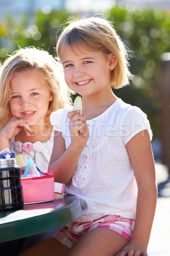
M 66 26 L 57 50 L 83 113 L 51 114 L 57 137 L 48 172 L 80 199 L 82 217 L 22 255 L 147 256 L 157 197 L 152 131 L 147 116 L 111 89 L 132 77 L 127 50 L 100 17 Z

